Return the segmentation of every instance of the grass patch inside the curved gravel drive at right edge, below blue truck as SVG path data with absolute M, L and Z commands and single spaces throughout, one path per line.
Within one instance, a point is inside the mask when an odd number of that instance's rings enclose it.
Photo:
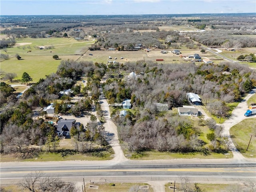
M 255 118 L 249 118 L 249 119 L 243 120 L 242 122 L 233 126 L 230 129 L 230 135 L 232 137 L 233 142 L 236 145 L 236 148 L 240 150 L 243 156 L 247 158 L 256 157 Z M 246 148 L 248 147 L 251 136 L 252 136 L 252 140 L 250 142 L 248 151 L 246 151 Z

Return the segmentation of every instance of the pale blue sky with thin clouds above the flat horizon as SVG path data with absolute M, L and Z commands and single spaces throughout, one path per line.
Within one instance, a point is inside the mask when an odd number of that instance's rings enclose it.
M 255 0 L 0 0 L 0 15 L 255 13 Z

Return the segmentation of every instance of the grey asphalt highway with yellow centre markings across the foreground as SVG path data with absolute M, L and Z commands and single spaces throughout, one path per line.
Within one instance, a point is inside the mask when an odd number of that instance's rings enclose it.
M 14 183 L 32 172 L 41 172 L 49 177 L 68 180 L 86 178 L 100 180 L 111 178 L 118 182 L 123 180 L 162 180 L 169 177 L 186 176 L 188 178 L 207 178 L 207 180 L 246 181 L 256 179 L 256 163 L 216 163 L 216 164 L 152 164 L 152 165 L 50 165 L 50 166 L 3 166 L 0 168 L 1 183 Z M 224 181 L 224 180 L 223 180 Z

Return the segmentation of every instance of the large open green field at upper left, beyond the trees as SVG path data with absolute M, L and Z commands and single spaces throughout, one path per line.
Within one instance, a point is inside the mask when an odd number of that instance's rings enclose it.
M 6 73 L 16 73 L 20 80 L 23 72 L 27 72 L 32 82 L 37 82 L 45 75 L 55 73 L 61 60 L 77 60 L 84 54 L 94 41 L 77 41 L 74 38 L 23 38 L 17 40 L 17 46 L 7 49 L 9 60 L 1 60 L 1 70 Z M 36 46 L 44 46 L 40 50 Z M 52 46 L 52 49 L 45 49 Z M 31 52 L 29 52 L 31 50 Z M 1 54 L 6 54 L 1 50 Z M 21 56 L 17 60 L 16 54 Z M 59 60 L 54 60 L 53 55 L 58 55 Z

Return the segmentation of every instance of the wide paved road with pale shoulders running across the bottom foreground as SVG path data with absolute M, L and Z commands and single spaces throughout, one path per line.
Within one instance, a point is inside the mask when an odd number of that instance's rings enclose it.
M 200 163 L 209 160 L 198 160 L 199 163 L 188 163 L 191 160 L 178 160 L 184 163 L 166 164 L 164 161 L 126 161 L 123 164 L 111 165 L 111 161 L 101 162 L 41 162 L 41 163 L 1 163 L 1 184 L 18 183 L 31 172 L 42 172 L 50 177 L 60 177 L 76 182 L 82 178 L 86 182 L 147 182 L 178 180 L 186 176 L 197 182 L 247 182 L 255 180 L 256 163 L 248 160 L 243 163 Z M 178 162 L 173 160 L 173 162 Z M 170 162 L 170 160 L 169 160 Z M 193 161 L 192 161 L 193 162 Z

